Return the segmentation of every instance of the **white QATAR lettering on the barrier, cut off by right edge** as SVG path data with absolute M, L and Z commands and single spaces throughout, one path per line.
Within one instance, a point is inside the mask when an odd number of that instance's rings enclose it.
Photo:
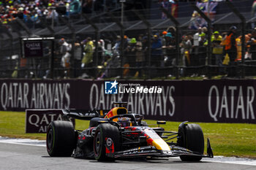
M 243 93 L 243 86 L 224 86 L 222 89 L 222 96 L 219 96 L 219 89 L 217 86 L 211 86 L 208 93 L 208 112 L 214 121 L 217 122 L 218 114 L 219 118 L 221 118 L 223 112 L 225 112 L 226 118 L 238 119 L 238 117 L 241 117 L 243 120 L 255 120 L 255 112 L 252 107 L 255 99 L 255 89 L 252 86 L 247 86 L 244 89 L 246 89 L 247 93 Z M 244 94 L 246 94 L 246 100 Z M 212 100 L 213 96 L 216 97 L 216 101 Z M 237 98 L 235 96 L 237 96 Z M 219 98 L 221 98 L 221 101 Z M 212 108 L 213 102 L 216 105 L 216 108 Z M 236 111 L 236 113 L 234 111 Z

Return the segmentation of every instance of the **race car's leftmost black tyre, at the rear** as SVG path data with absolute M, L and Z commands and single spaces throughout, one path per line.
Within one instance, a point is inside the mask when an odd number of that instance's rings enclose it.
M 48 125 L 46 147 L 50 156 L 71 156 L 75 149 L 75 130 L 69 121 L 53 121 Z

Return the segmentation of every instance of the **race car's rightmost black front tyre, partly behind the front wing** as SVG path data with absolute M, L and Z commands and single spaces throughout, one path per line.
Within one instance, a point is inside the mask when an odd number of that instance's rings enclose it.
M 197 124 L 185 124 L 183 133 L 181 133 L 181 141 L 179 146 L 185 147 L 193 152 L 203 154 L 204 150 L 204 138 L 203 131 L 200 125 Z M 181 155 L 181 161 L 200 161 L 201 156 Z

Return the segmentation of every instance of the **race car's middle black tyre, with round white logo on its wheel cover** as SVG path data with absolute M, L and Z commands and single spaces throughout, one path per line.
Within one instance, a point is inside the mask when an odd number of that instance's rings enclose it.
M 114 152 L 120 150 L 120 134 L 115 125 L 109 123 L 99 124 L 94 135 L 94 158 L 97 161 L 113 161 L 106 155 L 106 141 L 112 140 Z

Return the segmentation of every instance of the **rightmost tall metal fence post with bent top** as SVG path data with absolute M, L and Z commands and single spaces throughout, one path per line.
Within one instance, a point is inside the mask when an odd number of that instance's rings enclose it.
M 244 78 L 244 55 L 245 55 L 245 26 L 246 26 L 246 19 L 244 18 L 244 16 L 241 14 L 241 12 L 238 11 L 238 9 L 236 9 L 236 7 L 232 4 L 232 2 L 230 2 L 229 0 L 226 0 L 225 3 L 227 4 L 227 7 L 229 7 L 232 12 L 234 12 L 234 14 L 241 20 L 241 34 L 242 34 L 242 75 L 241 77 Z

